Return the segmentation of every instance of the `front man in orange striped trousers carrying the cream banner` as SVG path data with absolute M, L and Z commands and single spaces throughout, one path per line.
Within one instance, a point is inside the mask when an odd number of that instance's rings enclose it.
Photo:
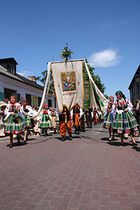
M 72 140 L 71 114 L 66 106 L 63 106 L 63 111 L 59 115 L 59 123 L 62 141 L 65 141 L 66 129 L 68 130 L 69 140 Z

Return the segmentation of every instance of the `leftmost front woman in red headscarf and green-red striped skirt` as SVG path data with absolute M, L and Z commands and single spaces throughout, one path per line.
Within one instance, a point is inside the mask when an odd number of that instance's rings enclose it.
M 17 135 L 20 144 L 20 134 L 23 131 L 23 116 L 21 105 L 16 102 L 15 96 L 10 97 L 10 104 L 5 109 L 4 133 L 10 135 L 10 148 L 13 147 L 13 134 Z

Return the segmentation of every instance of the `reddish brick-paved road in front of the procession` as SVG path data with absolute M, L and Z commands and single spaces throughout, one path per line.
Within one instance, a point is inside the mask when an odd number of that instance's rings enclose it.
M 0 210 L 139 210 L 140 144 L 107 143 L 96 126 L 73 141 L 0 140 Z

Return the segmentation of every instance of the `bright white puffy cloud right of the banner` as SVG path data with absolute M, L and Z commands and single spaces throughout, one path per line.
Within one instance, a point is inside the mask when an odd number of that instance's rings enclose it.
M 117 50 L 106 49 L 93 53 L 88 58 L 91 65 L 99 67 L 116 66 L 121 62 L 121 57 L 117 55 Z

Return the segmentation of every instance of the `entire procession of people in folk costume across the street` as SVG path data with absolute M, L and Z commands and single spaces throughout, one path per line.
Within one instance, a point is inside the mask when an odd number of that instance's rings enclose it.
M 16 102 L 15 96 L 10 97 L 10 101 L 5 99 L 0 102 L 0 126 L 3 126 L 3 132 L 10 136 L 9 147 L 13 147 L 13 140 L 16 139 L 18 144 L 26 144 L 31 133 L 35 135 L 49 135 L 48 130 L 60 132 L 61 140 L 66 140 L 68 132 L 69 140 L 72 140 L 72 128 L 75 134 L 85 132 L 87 128 L 104 121 L 104 127 L 109 130 L 109 142 L 114 139 L 114 134 L 119 133 L 121 143 L 124 144 L 124 135 L 130 134 L 132 143 L 136 145 L 135 133 L 138 133 L 138 112 L 140 106 L 136 106 L 136 119 L 132 112 L 132 104 L 127 100 L 121 91 L 116 92 L 117 100 L 109 97 L 108 107 L 103 113 L 100 109 L 89 108 L 87 110 L 80 108 L 78 104 L 69 110 L 63 106 L 61 112 L 54 107 L 44 105 L 41 112 L 38 113 L 38 107 L 31 107 L 27 100 Z M 1 129 L 2 131 L 2 129 Z

